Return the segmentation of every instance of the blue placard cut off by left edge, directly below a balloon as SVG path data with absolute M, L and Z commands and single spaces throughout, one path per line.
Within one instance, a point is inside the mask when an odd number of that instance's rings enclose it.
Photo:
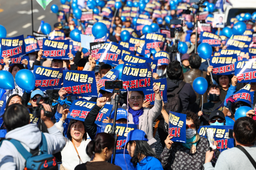
M 26 47 L 23 35 L 12 38 L 0 38 L 1 58 L 18 58 L 26 55 Z

